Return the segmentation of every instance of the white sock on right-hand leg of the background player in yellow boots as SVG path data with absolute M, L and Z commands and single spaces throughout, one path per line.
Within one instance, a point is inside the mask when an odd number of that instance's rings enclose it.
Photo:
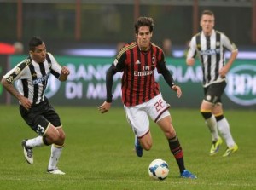
M 224 140 L 227 143 L 228 147 L 233 147 L 235 145 L 235 141 L 230 132 L 230 124 L 228 123 L 226 118 L 223 118 L 217 122 L 218 130 L 223 135 Z

